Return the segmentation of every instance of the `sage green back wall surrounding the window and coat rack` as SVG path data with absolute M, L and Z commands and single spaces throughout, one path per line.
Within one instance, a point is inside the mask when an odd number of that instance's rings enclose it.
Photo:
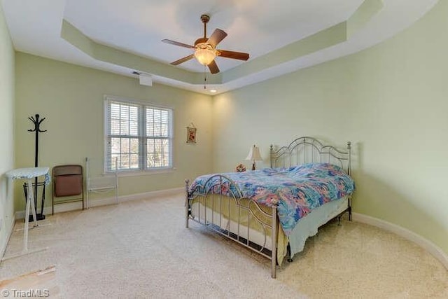
M 34 165 L 34 133 L 27 119 L 45 117 L 39 136 L 39 165 L 84 165 L 85 157 L 102 158 L 104 95 L 163 104 L 174 108 L 174 172 L 119 178 L 119 195 L 179 188 L 185 179 L 211 171 L 211 97 L 166 85 L 139 85 L 137 78 L 119 76 L 42 57 L 17 53 L 16 167 Z M 197 127 L 197 144 L 186 144 L 186 127 Z M 50 188 L 48 188 L 50 190 Z M 48 190 L 48 191 L 49 191 Z M 24 209 L 16 184 L 15 210 Z M 50 192 L 48 204 L 50 203 Z M 110 197 L 104 195 L 104 197 Z

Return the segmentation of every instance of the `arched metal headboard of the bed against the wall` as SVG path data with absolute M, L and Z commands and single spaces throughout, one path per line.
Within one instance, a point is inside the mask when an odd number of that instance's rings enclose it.
M 271 168 L 293 167 L 309 162 L 331 163 L 346 169 L 351 175 L 351 142 L 347 142 L 346 151 L 334 146 L 324 146 L 321 141 L 313 137 L 300 137 L 288 146 L 274 150 L 270 148 Z

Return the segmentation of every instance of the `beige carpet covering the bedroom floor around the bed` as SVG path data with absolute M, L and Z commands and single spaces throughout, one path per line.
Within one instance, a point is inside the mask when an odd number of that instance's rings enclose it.
M 48 216 L 29 248 L 49 249 L 3 261 L 0 277 L 55 265 L 61 298 L 448 298 L 433 256 L 369 225 L 325 225 L 271 279 L 269 260 L 183 215 L 179 194 Z M 6 255 L 21 246 L 14 232 Z

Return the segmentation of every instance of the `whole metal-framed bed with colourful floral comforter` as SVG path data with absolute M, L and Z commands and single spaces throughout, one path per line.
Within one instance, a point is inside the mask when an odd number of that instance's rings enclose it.
M 276 265 L 303 250 L 332 218 L 351 220 L 351 143 L 344 150 L 300 137 L 270 147 L 270 168 L 186 181 L 186 228 L 195 221 Z

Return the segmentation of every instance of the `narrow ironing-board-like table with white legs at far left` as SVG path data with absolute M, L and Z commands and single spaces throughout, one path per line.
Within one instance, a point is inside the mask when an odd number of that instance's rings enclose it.
M 43 251 L 46 248 L 43 249 L 34 249 L 32 251 L 28 250 L 28 223 L 29 223 L 29 208 L 31 205 L 31 212 L 33 214 L 33 222 L 34 222 L 34 228 L 38 226 L 37 224 L 37 218 L 36 218 L 36 209 L 34 207 L 34 195 L 33 195 L 33 179 L 38 176 L 45 176 L 45 185 L 48 185 L 50 183 L 50 174 L 48 174 L 50 168 L 49 167 L 27 167 L 27 168 L 18 168 L 10 170 L 9 172 L 6 172 L 6 176 L 8 176 L 9 179 L 24 179 L 27 180 L 28 185 L 28 195 L 27 195 L 27 203 L 26 205 L 26 212 L 25 212 L 25 228 L 23 230 L 23 249 L 21 253 L 14 254 L 13 256 L 8 256 L 5 258 L 2 258 L 1 260 L 7 260 L 8 258 L 17 258 L 18 256 L 24 256 L 28 253 L 34 253 L 38 251 Z

